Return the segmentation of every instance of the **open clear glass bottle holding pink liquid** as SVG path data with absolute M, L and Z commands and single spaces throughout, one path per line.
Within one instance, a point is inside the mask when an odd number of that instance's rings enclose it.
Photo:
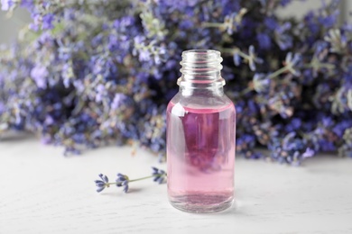
M 234 201 L 236 111 L 221 62 L 216 50 L 184 51 L 180 91 L 167 107 L 168 194 L 181 211 L 223 211 Z

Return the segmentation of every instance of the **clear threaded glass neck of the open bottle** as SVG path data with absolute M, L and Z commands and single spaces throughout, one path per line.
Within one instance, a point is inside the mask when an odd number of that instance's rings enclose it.
M 225 80 L 220 71 L 220 52 L 211 49 L 192 49 L 182 53 L 180 85 L 182 94 L 223 94 Z

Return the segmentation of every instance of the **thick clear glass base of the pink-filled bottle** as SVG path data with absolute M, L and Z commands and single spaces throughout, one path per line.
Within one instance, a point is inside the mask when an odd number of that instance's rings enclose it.
M 194 213 L 213 213 L 225 211 L 232 206 L 234 198 L 221 195 L 191 194 L 170 198 L 170 203 L 176 209 Z

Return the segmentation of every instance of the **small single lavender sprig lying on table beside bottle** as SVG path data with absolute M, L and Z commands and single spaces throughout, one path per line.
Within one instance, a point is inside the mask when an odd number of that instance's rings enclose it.
M 136 182 L 144 179 L 150 179 L 153 178 L 154 182 L 157 182 L 158 184 L 165 184 L 167 180 L 167 175 L 166 172 L 158 169 L 156 167 L 153 168 L 153 174 L 149 176 L 145 176 L 142 178 L 138 179 L 130 179 L 127 175 L 123 175 L 121 173 L 117 174 L 116 182 L 109 182 L 107 175 L 99 174 L 100 180 L 96 180 L 96 186 L 97 186 L 97 193 L 102 192 L 105 188 L 110 187 L 110 185 L 116 185 L 117 187 L 123 187 L 123 191 L 125 193 L 128 192 L 129 189 L 129 184 L 131 182 Z

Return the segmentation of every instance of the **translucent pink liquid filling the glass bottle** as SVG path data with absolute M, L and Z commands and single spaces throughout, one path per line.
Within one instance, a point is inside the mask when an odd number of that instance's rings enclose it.
M 167 116 L 171 204 L 184 211 L 225 210 L 234 199 L 234 105 L 196 109 L 169 103 Z

